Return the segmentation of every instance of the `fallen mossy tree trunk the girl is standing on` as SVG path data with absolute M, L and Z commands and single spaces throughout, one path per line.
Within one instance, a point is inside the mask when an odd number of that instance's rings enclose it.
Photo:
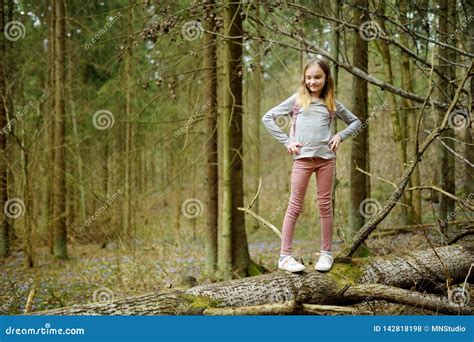
M 199 285 L 187 290 L 152 293 L 107 304 L 89 304 L 35 314 L 48 315 L 176 315 L 216 314 L 212 308 L 277 305 L 282 313 L 301 313 L 302 305 L 350 305 L 383 299 L 441 313 L 471 314 L 472 306 L 450 303 L 446 296 L 423 294 L 420 284 L 461 283 L 474 264 L 474 245 L 463 244 L 405 255 L 353 259 L 336 263 L 328 273 L 270 274 Z M 296 303 L 293 305 L 292 303 Z M 275 309 L 277 309 L 275 307 Z M 304 307 L 303 307 L 304 308 Z M 259 312 L 248 309 L 249 312 Z M 277 310 L 277 311 L 278 311 Z M 241 310 L 242 313 L 245 310 Z M 225 312 L 225 311 L 222 311 Z M 262 308 L 260 312 L 265 311 Z

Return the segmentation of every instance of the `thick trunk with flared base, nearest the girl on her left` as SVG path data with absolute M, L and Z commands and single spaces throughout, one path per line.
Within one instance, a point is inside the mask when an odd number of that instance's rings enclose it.
M 223 248 L 221 270 L 224 279 L 245 276 L 252 265 L 247 245 L 243 206 L 242 148 L 242 17 L 240 3 L 226 3 L 228 37 L 225 63 L 227 76 L 223 120 Z

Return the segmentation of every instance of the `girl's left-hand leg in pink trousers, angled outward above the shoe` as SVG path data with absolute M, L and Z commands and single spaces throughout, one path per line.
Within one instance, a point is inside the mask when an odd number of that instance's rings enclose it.
M 314 163 L 311 158 L 296 159 L 291 172 L 291 196 L 283 220 L 280 254 L 290 255 L 291 244 L 296 221 L 303 210 L 304 196 L 311 174 L 314 172 Z

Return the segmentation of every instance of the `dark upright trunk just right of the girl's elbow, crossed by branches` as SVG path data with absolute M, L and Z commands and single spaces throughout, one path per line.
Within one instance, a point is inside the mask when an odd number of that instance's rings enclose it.
M 356 25 L 361 25 L 369 20 L 367 0 L 357 0 L 357 8 L 354 10 L 354 20 Z M 367 72 L 368 70 L 368 45 L 367 40 L 363 39 L 359 32 L 354 34 L 353 45 L 353 64 L 354 67 Z M 353 101 L 352 110 L 360 119 L 363 125 L 366 124 L 367 113 L 367 81 L 354 77 L 352 81 Z M 349 238 L 364 225 L 365 218 L 361 213 L 360 206 L 370 196 L 369 183 L 367 175 L 356 170 L 356 167 L 369 171 L 369 132 L 368 129 L 362 130 L 357 134 L 351 146 L 351 166 L 350 166 L 350 206 L 349 206 Z

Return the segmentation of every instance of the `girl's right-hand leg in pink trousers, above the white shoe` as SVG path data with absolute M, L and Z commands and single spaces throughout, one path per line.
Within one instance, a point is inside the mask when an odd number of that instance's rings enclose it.
M 330 251 L 332 242 L 332 182 L 334 177 L 335 159 L 316 159 L 316 183 L 321 218 L 321 250 Z

